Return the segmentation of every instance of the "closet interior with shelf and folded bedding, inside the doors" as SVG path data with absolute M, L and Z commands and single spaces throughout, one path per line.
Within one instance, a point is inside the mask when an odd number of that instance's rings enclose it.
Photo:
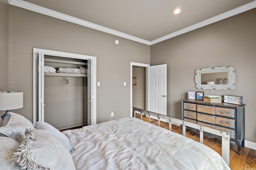
M 44 55 L 44 66 L 57 71 L 44 72 L 44 121 L 59 130 L 88 125 L 87 60 Z

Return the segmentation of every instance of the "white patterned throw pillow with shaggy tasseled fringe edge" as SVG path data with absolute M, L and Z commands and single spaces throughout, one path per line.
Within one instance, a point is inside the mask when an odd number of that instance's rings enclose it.
M 71 154 L 44 130 L 26 129 L 25 140 L 13 154 L 22 169 L 75 170 Z

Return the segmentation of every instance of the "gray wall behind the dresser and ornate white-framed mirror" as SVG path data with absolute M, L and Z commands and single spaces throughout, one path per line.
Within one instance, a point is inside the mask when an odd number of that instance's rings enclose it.
M 188 91 L 205 95 L 243 96 L 245 139 L 256 142 L 256 9 L 190 31 L 151 46 L 151 65 L 167 64 L 167 114 L 181 118 L 182 99 Z M 234 90 L 199 90 L 195 70 L 233 66 Z

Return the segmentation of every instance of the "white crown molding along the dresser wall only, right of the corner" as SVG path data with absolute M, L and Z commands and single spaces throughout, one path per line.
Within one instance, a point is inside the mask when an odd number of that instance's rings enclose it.
M 238 7 L 238 8 L 234 8 L 233 10 L 224 12 L 224 13 L 222 13 L 220 15 L 217 15 L 217 16 L 214 16 L 212 18 L 209 18 L 207 20 L 198 22 L 198 23 L 196 23 L 194 25 L 191 25 L 189 27 L 180 29 L 180 30 L 178 30 L 178 31 L 176 31 L 174 33 L 170 33 L 168 35 L 165 35 L 163 37 L 155 39 L 155 40 L 150 42 L 150 45 L 159 43 L 161 41 L 165 41 L 166 39 L 170 39 L 172 37 L 176 37 L 178 35 L 181 35 L 181 34 L 189 32 L 189 31 L 192 31 L 194 29 L 198 29 L 200 27 L 204 27 L 204 26 L 209 25 L 211 23 L 214 23 L 214 22 L 217 22 L 217 21 L 220 21 L 220 20 L 224 20 L 224 19 L 229 18 L 231 16 L 234 16 L 234 15 L 240 14 L 242 12 L 251 10 L 253 8 L 256 8 L 256 0 L 254 0 L 254 1 L 250 2 L 250 3 L 248 3 L 248 4 L 242 5 L 242 6 Z

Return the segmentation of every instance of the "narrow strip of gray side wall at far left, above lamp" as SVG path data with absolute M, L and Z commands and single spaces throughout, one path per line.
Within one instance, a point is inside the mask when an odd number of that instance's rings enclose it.
M 8 90 L 8 74 L 8 2 L 0 0 L 0 92 Z

